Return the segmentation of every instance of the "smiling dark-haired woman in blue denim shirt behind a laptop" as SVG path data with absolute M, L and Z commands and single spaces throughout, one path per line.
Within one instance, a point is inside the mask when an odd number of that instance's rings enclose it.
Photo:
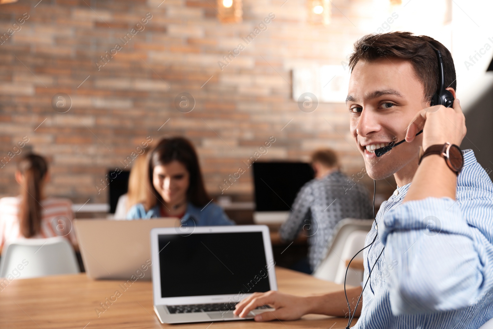
M 211 202 L 193 145 L 181 137 L 165 138 L 148 157 L 145 202 L 133 206 L 127 219 L 177 217 L 182 225 L 233 225 Z

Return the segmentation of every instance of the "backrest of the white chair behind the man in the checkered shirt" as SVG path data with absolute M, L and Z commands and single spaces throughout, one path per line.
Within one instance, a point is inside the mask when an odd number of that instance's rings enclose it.
M 342 255 L 348 237 L 354 231 L 363 231 L 368 233 L 372 227 L 372 224 L 373 224 L 373 219 L 347 218 L 339 221 L 337 225 L 334 227 L 333 233 L 329 241 L 327 241 L 328 247 L 326 248 L 325 256 L 322 258 L 323 260 L 318 264 L 317 268 L 314 270 L 313 276 L 322 280 L 335 281 L 337 273 L 340 272 L 339 267 L 344 266 L 344 269 L 346 268 L 346 264 L 345 264 L 346 259 L 343 258 Z M 357 245 L 356 241 L 359 241 L 358 238 L 360 237 L 361 237 L 361 232 L 352 237 L 351 240 L 354 243 L 352 243 L 351 246 L 346 248 L 348 250 L 348 253 L 352 250 L 354 246 Z M 363 243 L 364 243 L 364 239 L 363 239 Z M 359 249 L 357 251 L 359 251 Z M 352 256 L 356 254 L 356 252 L 354 252 L 349 257 L 349 259 L 351 259 Z M 343 278 L 343 282 L 344 282 L 344 278 Z

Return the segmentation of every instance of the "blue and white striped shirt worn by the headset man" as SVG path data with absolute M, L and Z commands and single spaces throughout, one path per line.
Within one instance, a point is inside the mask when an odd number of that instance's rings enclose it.
M 493 184 L 463 150 L 456 200 L 402 204 L 411 183 L 380 207 L 378 238 L 365 249 L 358 329 L 473 329 L 493 318 Z M 377 234 L 375 223 L 365 246 Z

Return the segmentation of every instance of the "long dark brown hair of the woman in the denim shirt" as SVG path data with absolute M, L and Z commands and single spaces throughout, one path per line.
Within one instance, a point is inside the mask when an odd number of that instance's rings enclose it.
M 164 203 L 152 183 L 154 167 L 166 165 L 175 160 L 183 164 L 190 175 L 190 183 L 186 193 L 187 201 L 196 207 L 203 207 L 211 200 L 204 187 L 199 159 L 192 143 L 183 137 L 164 138 L 149 154 L 147 180 L 149 189 L 145 202 L 146 210 L 151 209 L 158 202 Z

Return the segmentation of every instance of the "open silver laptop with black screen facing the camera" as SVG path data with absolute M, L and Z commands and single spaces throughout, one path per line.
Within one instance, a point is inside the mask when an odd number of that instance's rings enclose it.
M 273 311 L 262 306 L 246 318 L 235 305 L 253 292 L 277 290 L 269 228 L 203 226 L 186 234 L 151 230 L 154 311 L 162 323 L 252 319 Z

